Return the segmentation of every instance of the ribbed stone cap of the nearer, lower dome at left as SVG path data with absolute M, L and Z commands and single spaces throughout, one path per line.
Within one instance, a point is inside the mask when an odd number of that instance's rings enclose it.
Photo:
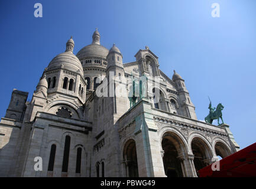
M 75 72 L 79 70 L 80 74 L 82 74 L 83 76 L 82 64 L 73 53 L 64 52 L 58 54 L 56 57 L 53 58 L 53 60 L 51 60 L 50 64 L 47 67 L 47 70 L 60 69 L 61 67 Z

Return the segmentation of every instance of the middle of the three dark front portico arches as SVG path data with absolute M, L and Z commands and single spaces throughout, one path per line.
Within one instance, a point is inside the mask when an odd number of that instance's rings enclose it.
M 209 146 L 206 144 L 206 142 L 203 141 L 203 139 L 196 137 L 193 138 L 191 146 L 194 154 L 194 165 L 196 171 L 210 165 L 212 153 L 210 152 Z

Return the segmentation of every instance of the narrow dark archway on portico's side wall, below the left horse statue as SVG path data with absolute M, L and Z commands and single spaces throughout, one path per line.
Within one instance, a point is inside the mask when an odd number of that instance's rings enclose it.
M 129 139 L 124 147 L 124 162 L 127 177 L 138 177 L 138 162 L 136 144 L 133 139 Z

